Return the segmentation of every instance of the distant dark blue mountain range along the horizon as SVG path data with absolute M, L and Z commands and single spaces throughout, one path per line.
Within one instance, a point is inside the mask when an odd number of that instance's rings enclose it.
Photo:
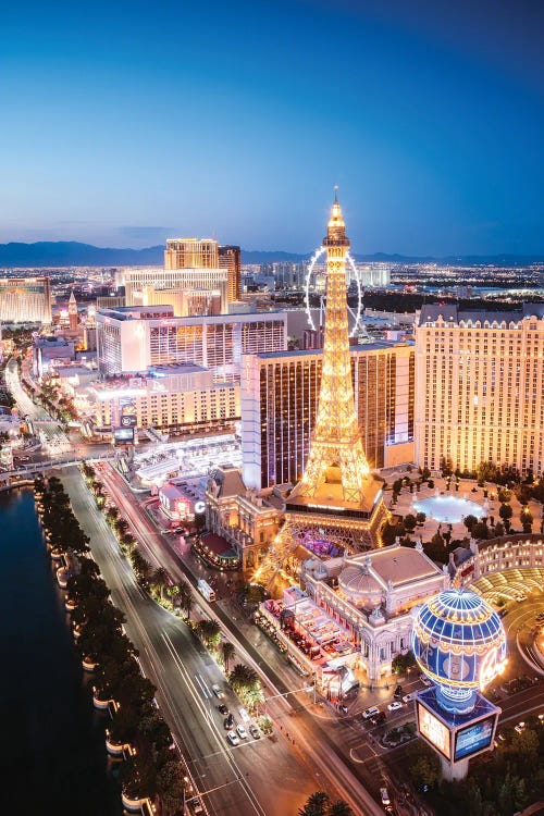
M 281 261 L 300 262 L 308 260 L 311 254 L 277 251 L 242 250 L 244 263 L 273 263 Z M 496 267 L 527 267 L 544 262 L 541 255 L 466 255 L 433 258 L 431 256 L 409 257 L 404 255 L 356 255 L 356 260 L 381 261 L 383 263 L 445 263 L 457 265 L 492 264 Z M 48 268 L 48 267 L 146 267 L 162 265 L 164 247 L 146 249 L 115 249 L 95 247 L 77 240 L 41 240 L 37 244 L 0 244 L 1 268 Z

